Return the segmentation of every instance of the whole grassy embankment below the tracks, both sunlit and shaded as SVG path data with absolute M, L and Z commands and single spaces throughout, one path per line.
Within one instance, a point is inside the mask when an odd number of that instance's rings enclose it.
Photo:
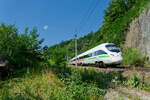
M 144 78 L 123 72 L 102 72 L 92 68 L 50 67 L 1 82 L 1 100 L 103 100 L 109 89 L 119 86 L 150 91 Z

